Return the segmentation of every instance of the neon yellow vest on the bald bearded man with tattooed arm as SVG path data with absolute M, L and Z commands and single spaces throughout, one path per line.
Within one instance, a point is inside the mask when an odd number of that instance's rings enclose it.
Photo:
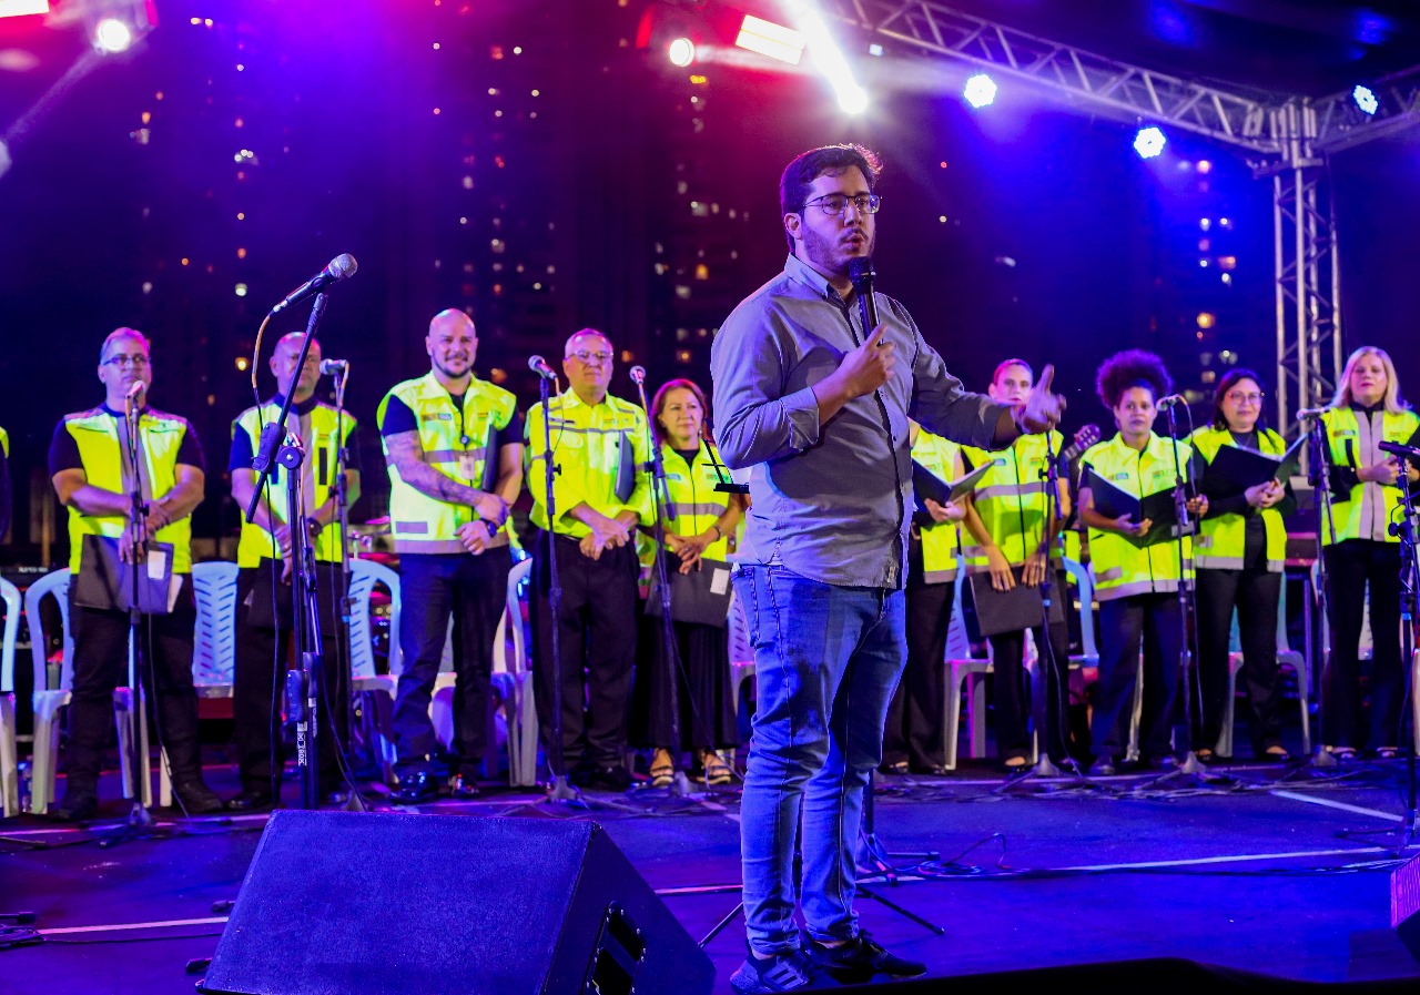
M 419 423 L 419 446 L 425 463 L 467 487 L 491 491 L 497 484 L 498 460 L 488 451 L 493 433 L 507 429 L 517 409 L 517 399 L 503 387 L 471 378 L 463 395 L 463 410 L 453 405 L 449 390 L 439 383 L 433 370 L 423 376 L 396 383 L 379 402 L 376 420 L 383 424 L 389 399 L 399 397 L 415 413 Z M 466 504 L 450 504 L 416 491 L 399 477 L 389 460 L 389 446 L 381 433 L 385 463 L 389 468 L 389 527 L 395 537 L 395 552 L 466 552 L 459 541 L 459 527 L 479 520 L 479 512 Z M 507 545 L 513 518 L 490 545 Z

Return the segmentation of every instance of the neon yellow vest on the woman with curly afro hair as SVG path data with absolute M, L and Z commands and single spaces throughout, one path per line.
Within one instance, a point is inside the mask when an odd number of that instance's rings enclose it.
M 1146 497 L 1173 487 L 1174 450 L 1179 466 L 1189 473 L 1193 447 L 1150 433 L 1149 444 L 1140 453 L 1125 444 L 1120 434 L 1098 443 L 1081 457 L 1083 467 L 1122 491 L 1135 497 Z M 1163 593 L 1179 589 L 1179 542 L 1167 539 L 1152 546 L 1139 548 L 1115 532 L 1089 529 L 1089 559 L 1095 568 L 1095 596 L 1099 600 L 1129 598 L 1130 595 Z M 1183 539 L 1184 573 L 1193 569 L 1193 541 Z

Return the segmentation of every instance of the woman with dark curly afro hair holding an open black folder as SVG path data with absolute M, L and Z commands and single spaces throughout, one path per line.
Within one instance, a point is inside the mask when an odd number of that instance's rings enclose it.
M 1143 678 L 1139 728 L 1140 765 L 1170 762 L 1173 751 L 1190 748 L 1189 731 L 1174 730 L 1179 711 L 1183 625 L 1179 583 L 1193 569 L 1190 539 L 1164 535 L 1142 545 L 1152 521 L 1109 518 L 1096 510 L 1096 478 L 1143 498 L 1173 488 L 1193 457 L 1187 443 L 1153 433 L 1159 399 L 1173 380 L 1152 352 L 1129 349 L 1105 361 L 1095 378 L 1099 400 L 1115 416 L 1119 433 L 1081 457 L 1081 522 L 1089 528 L 1089 555 L 1099 600 L 1099 683 L 1091 718 L 1095 764 L 1091 774 L 1109 776 L 1129 748 L 1129 722 L 1136 683 Z M 1099 495 L 1103 502 L 1103 494 Z M 1207 498 L 1189 500 L 1190 514 L 1207 511 Z M 1143 646 L 1143 667 L 1139 652 Z

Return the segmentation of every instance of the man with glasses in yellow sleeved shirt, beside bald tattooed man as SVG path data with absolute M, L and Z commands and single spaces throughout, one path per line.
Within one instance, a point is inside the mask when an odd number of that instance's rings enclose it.
M 611 339 L 584 328 L 567 341 L 568 389 L 548 402 L 552 501 L 547 512 L 547 443 L 542 405 L 527 417 L 532 524 L 532 659 L 538 721 L 552 742 L 552 626 L 561 640 L 561 769 L 572 784 L 611 791 L 630 786 L 626 707 L 636 657 L 636 524 L 650 521 L 650 444 L 646 414 L 606 393 Z M 562 596 L 558 617 L 548 600 L 550 558 L 557 556 Z M 582 671 L 586 671 L 586 686 Z M 585 708 L 584 708 L 585 701 Z M 584 714 L 585 713 L 585 714 Z M 550 764 L 557 764 L 548 747 Z

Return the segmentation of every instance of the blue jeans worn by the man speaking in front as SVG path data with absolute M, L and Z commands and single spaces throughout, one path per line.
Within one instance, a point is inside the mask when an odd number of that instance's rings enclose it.
M 798 948 L 794 850 L 814 940 L 852 940 L 863 788 L 882 759 L 888 703 L 907 659 L 902 590 L 839 588 L 782 566 L 736 571 L 758 708 L 740 802 L 750 945 Z

